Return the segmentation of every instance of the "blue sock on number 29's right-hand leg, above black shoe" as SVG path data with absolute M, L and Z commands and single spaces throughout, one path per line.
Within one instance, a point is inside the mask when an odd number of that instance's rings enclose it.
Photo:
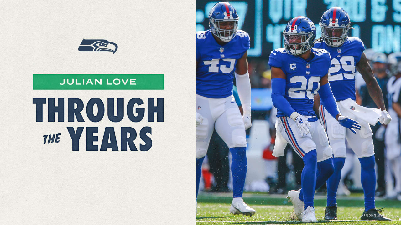
M 360 162 L 361 172 L 360 180 L 362 181 L 363 193 L 365 195 L 365 211 L 375 208 L 375 189 L 376 189 L 376 173 L 375 173 L 375 156 L 358 158 Z

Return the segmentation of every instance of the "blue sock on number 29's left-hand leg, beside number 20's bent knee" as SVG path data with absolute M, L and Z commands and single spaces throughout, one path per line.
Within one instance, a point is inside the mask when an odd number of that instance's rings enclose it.
M 336 195 L 338 184 L 341 179 L 341 169 L 344 166 L 345 158 L 344 157 L 334 157 L 334 173 L 327 180 L 327 206 L 335 206 L 337 204 Z

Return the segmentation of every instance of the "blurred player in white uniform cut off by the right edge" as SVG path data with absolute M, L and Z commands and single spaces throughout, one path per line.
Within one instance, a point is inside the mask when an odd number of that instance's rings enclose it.
M 398 200 L 401 201 L 401 52 L 389 54 L 388 62 L 393 76 L 387 82 L 387 96 L 389 114 L 393 119 L 387 125 L 385 133 L 386 157 L 390 164 L 389 170 L 392 171 L 391 174 L 395 177 L 395 194 L 397 194 Z M 390 179 L 393 178 L 391 177 Z

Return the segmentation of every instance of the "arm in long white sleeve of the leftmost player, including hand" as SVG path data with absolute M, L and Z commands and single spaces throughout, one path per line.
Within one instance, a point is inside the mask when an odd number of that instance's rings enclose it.
M 247 52 L 238 60 L 235 70 L 235 80 L 237 80 L 237 92 L 243 110 L 242 119 L 245 130 L 252 126 L 251 123 L 251 81 L 248 73 L 248 54 Z

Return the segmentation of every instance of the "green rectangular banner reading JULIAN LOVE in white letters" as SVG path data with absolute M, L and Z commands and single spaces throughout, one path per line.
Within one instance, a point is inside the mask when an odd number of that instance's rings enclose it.
M 163 90 L 164 74 L 32 74 L 33 90 Z

